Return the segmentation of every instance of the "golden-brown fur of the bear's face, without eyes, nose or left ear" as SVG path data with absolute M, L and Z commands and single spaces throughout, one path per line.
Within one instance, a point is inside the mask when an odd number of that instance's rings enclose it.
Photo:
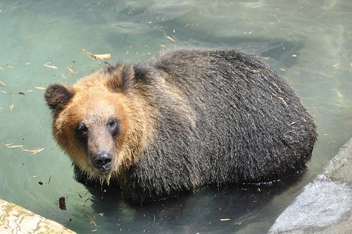
M 115 76 L 118 71 L 112 76 Z M 137 161 L 139 153 L 146 145 L 149 121 L 143 108 L 143 100 L 137 96 L 111 90 L 111 82 L 106 73 L 99 72 L 65 87 L 73 92 L 73 97 L 62 111 L 54 117 L 54 138 L 70 156 L 74 164 L 86 171 L 92 178 L 108 181 Z M 117 135 L 108 132 L 108 120 L 115 118 L 120 123 Z M 76 128 L 84 123 L 89 131 L 87 144 L 77 139 Z M 100 173 L 94 167 L 93 156 L 99 151 L 113 154 L 111 170 Z M 119 179 L 119 178 L 118 178 Z M 123 178 L 120 178 L 123 180 Z

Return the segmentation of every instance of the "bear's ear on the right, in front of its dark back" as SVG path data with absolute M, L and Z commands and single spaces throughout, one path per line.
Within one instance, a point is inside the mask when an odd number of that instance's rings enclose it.
M 130 64 L 118 63 L 109 66 L 106 71 L 111 75 L 108 88 L 113 92 L 126 92 L 134 84 L 134 70 Z

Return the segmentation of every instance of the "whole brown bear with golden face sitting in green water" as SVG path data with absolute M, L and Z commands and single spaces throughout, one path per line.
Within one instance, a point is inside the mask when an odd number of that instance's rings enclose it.
M 316 126 L 275 70 L 237 49 L 178 49 L 45 92 L 79 181 L 118 181 L 132 202 L 304 168 Z

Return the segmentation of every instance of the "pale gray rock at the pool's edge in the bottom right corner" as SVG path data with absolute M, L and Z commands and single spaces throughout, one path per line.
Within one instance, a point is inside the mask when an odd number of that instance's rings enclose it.
M 269 233 L 352 232 L 352 139 L 322 174 L 304 187 Z

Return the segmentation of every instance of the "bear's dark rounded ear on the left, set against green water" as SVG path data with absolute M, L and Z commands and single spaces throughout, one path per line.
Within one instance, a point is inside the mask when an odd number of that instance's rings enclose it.
M 68 85 L 49 85 L 45 90 L 45 100 L 53 113 L 57 114 L 63 110 L 68 101 L 73 98 L 73 88 Z

